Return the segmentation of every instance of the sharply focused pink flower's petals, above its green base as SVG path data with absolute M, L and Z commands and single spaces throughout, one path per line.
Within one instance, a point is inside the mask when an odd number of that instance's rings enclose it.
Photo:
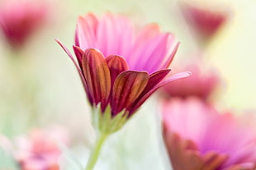
M 168 76 L 178 49 L 173 34 L 155 24 L 134 30 L 125 16 L 80 16 L 73 45 L 78 64 L 58 41 L 76 65 L 92 106 L 101 103 L 104 112 L 110 104 L 112 117 L 124 109 L 130 117 L 160 86 L 190 75 Z

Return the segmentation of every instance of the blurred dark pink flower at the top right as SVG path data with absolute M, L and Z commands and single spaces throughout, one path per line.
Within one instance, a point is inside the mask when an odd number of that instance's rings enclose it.
M 209 4 L 207 7 L 206 5 L 191 3 L 181 4 L 181 10 L 187 23 L 203 43 L 211 40 L 229 18 L 225 7 L 214 7 L 212 5 Z

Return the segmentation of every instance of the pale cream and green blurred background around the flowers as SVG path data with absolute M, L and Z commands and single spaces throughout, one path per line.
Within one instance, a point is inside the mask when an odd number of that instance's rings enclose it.
M 0 4 L 3 2 L 1 0 Z M 88 12 L 98 15 L 106 11 L 122 13 L 138 25 L 158 23 L 181 42 L 172 66 L 189 63 L 193 56 L 200 55 L 206 65 L 216 67 L 223 79 L 214 95 L 217 108 L 237 114 L 254 110 L 254 0 L 187 0 L 202 7 L 210 4 L 213 9 L 222 7 L 228 11 L 225 25 L 203 51 L 194 39 L 178 0 L 45 2 L 50 5 L 48 20 L 21 50 L 14 52 L 0 34 L 0 132 L 3 135 L 15 138 L 34 127 L 61 126 L 76 144 L 66 152 L 72 152 L 75 159 L 84 163 L 88 148 L 95 140 L 90 108 L 73 63 L 55 39 L 72 49 L 77 18 Z M 96 169 L 161 170 L 168 166 L 159 134 L 161 125 L 156 121 L 159 115 L 155 98 L 149 99 L 121 131 L 107 140 Z M 61 161 L 64 169 L 78 169 L 72 159 Z

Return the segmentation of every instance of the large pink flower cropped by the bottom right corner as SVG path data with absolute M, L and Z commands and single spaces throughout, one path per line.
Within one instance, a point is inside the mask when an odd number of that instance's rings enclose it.
M 254 170 L 256 135 L 229 113 L 199 99 L 175 99 L 163 109 L 164 140 L 174 170 Z

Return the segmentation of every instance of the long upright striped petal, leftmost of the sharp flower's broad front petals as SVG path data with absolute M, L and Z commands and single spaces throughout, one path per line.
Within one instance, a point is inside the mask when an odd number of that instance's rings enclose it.
M 83 75 L 88 82 L 88 91 L 93 103 L 101 103 L 102 111 L 107 107 L 111 91 L 111 76 L 107 62 L 100 51 L 88 48 L 83 54 Z

